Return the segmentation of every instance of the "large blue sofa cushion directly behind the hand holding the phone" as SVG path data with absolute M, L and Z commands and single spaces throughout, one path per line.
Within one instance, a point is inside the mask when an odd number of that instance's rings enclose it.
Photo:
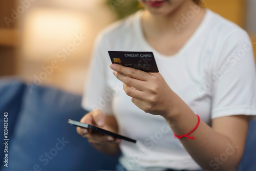
M 117 157 L 96 151 L 76 133 L 68 119 L 80 120 L 87 113 L 81 96 L 53 88 L 25 89 L 6 170 L 100 170 L 113 169 Z

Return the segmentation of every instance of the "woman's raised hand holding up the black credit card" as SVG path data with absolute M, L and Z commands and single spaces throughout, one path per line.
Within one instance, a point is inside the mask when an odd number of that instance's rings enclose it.
M 134 68 L 112 64 L 113 74 L 122 81 L 123 90 L 132 102 L 146 113 L 174 115 L 180 105 L 179 96 L 170 89 L 160 73 L 147 73 Z

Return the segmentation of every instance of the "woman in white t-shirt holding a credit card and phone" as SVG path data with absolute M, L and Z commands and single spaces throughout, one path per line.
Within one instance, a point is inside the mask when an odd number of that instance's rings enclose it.
M 140 3 L 98 36 L 81 119 L 137 143 L 77 132 L 103 153 L 121 150 L 119 170 L 236 170 L 256 115 L 250 38 L 191 0 Z M 159 73 L 111 65 L 110 50 L 152 51 Z

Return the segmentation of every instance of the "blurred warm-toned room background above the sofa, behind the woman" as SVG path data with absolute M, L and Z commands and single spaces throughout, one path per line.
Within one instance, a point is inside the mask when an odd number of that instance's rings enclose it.
M 245 29 L 256 52 L 256 0 L 201 5 Z M 81 94 L 98 32 L 140 8 L 136 0 L 1 0 L 0 76 Z

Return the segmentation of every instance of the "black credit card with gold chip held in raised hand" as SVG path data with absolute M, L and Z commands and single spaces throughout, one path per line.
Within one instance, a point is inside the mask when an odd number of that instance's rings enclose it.
M 109 51 L 112 63 L 145 72 L 159 72 L 152 52 Z

